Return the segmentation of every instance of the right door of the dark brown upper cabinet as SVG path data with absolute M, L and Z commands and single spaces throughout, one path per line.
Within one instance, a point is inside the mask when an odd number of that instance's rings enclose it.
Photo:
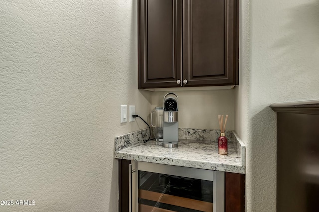
M 238 84 L 238 1 L 185 0 L 183 86 Z

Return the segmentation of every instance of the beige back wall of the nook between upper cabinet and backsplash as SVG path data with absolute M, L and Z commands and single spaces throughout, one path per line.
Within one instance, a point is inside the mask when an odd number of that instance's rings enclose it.
M 235 91 L 173 91 L 178 96 L 180 128 L 219 129 L 218 114 L 228 114 L 226 129 L 234 130 Z M 152 110 L 163 107 L 164 96 L 169 92 L 152 93 Z

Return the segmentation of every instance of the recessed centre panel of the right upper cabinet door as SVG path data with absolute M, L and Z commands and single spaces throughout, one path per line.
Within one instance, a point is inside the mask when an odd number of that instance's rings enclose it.
M 224 0 L 186 1 L 185 10 L 184 75 L 224 75 Z

